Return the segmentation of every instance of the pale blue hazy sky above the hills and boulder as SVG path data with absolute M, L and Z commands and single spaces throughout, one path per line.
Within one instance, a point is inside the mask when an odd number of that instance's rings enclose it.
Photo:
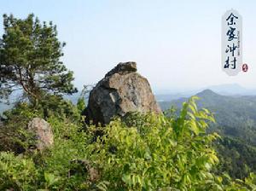
M 243 17 L 243 62 L 249 67 L 236 77 L 221 70 L 221 16 L 232 8 Z M 233 83 L 256 88 L 253 0 L 2 0 L 4 13 L 52 20 L 67 42 L 63 61 L 78 87 L 95 84 L 119 62 L 137 61 L 154 91 Z

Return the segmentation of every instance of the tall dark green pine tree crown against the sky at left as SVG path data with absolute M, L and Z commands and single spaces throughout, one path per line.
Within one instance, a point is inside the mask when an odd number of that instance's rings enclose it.
M 34 105 L 45 93 L 72 94 L 73 72 L 60 61 L 62 48 L 56 26 L 40 23 L 29 14 L 25 20 L 3 15 L 0 39 L 0 98 L 23 90 Z

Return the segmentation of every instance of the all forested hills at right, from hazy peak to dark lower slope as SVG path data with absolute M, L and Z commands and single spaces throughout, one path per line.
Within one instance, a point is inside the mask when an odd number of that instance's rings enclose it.
M 221 165 L 218 171 L 227 171 L 232 177 L 246 177 L 248 171 L 256 171 L 256 96 L 221 96 L 212 90 L 203 90 L 198 107 L 214 113 L 216 124 L 210 130 L 222 136 L 215 143 Z M 171 106 L 181 108 L 189 98 L 160 101 L 163 110 Z

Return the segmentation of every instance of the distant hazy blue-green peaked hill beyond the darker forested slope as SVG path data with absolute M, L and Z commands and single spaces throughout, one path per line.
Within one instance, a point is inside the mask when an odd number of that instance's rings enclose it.
M 212 128 L 226 136 L 239 137 L 256 145 L 256 96 L 221 96 L 212 90 L 203 90 L 195 96 L 200 97 L 198 107 L 205 107 L 214 113 L 217 124 Z M 189 98 L 175 101 L 162 101 L 163 110 L 171 106 L 178 109 Z

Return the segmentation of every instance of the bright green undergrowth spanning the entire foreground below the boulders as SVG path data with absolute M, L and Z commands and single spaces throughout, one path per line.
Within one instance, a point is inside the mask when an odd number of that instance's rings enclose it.
M 244 180 L 214 174 L 218 157 L 212 142 L 218 135 L 206 133 L 214 119 L 207 109 L 197 109 L 195 99 L 184 103 L 177 117 L 135 113 L 87 130 L 79 121 L 50 116 L 52 147 L 17 156 L 0 153 L 0 189 L 255 189 L 254 174 Z M 99 130 L 102 136 L 96 136 Z

